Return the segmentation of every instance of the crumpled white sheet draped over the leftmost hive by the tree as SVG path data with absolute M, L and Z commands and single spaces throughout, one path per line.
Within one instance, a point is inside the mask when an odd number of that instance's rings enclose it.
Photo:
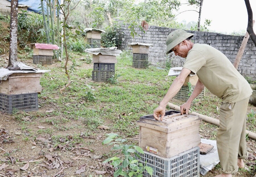
M 50 70 L 32 68 L 30 66 L 25 65 L 22 62 L 15 62 L 13 67 L 19 67 L 20 70 L 11 71 L 7 68 L 0 68 L 0 80 L 5 81 L 8 78 L 8 76 L 13 73 L 45 73 L 50 71 Z

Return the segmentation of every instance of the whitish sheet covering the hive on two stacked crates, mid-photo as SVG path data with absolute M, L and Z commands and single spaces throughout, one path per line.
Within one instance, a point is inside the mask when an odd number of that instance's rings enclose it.
M 121 50 L 117 50 L 117 47 L 91 48 L 91 49 L 85 49 L 84 52 L 88 52 L 94 55 L 98 55 L 100 53 L 102 55 L 113 55 L 113 56 L 118 56 L 120 53 L 122 53 Z

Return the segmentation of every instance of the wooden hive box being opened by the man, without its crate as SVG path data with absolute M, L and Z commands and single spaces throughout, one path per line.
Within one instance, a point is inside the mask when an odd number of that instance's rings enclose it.
M 157 121 L 153 115 L 140 117 L 139 146 L 164 158 L 173 157 L 200 144 L 198 115 L 181 115 L 166 111 L 165 119 Z

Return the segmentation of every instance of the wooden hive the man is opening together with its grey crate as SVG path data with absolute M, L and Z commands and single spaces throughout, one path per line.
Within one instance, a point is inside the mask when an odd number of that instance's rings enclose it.
M 153 177 L 196 177 L 199 173 L 199 123 L 198 115 L 181 115 L 180 112 L 166 111 L 163 121 L 153 115 L 140 117 L 138 153 L 141 162 L 153 168 Z M 144 173 L 144 176 L 150 176 Z

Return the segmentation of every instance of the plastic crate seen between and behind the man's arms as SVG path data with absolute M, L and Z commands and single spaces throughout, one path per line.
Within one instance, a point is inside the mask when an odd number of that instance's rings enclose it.
M 189 94 L 192 94 L 195 86 L 191 86 L 191 90 L 189 90 L 188 86 L 182 86 L 178 93 L 174 96 L 177 100 L 187 101 L 189 99 Z M 195 101 L 202 101 L 205 97 L 205 88 L 203 91 L 195 98 Z

